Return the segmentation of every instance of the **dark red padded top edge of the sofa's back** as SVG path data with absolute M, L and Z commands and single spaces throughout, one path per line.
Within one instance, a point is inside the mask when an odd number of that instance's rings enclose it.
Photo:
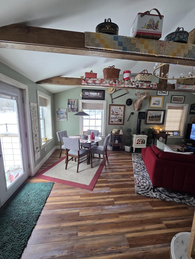
M 182 162 L 182 163 L 193 163 L 195 164 L 195 159 L 193 155 L 184 155 L 178 154 L 179 152 L 160 152 L 158 158 L 173 161 L 173 162 Z

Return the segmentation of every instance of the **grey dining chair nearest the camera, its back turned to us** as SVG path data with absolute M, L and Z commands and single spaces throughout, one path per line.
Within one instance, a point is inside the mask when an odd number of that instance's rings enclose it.
M 76 170 L 76 172 L 78 173 L 80 163 L 87 160 L 87 165 L 89 164 L 89 149 L 80 149 L 80 142 L 78 138 L 63 137 L 63 142 L 64 142 L 64 147 L 66 148 L 66 160 L 65 160 L 66 168 L 65 169 L 67 169 L 68 162 L 71 159 L 73 160 L 73 157 L 75 158 L 75 162 L 76 162 L 76 158 L 78 158 L 77 170 Z M 68 159 L 69 156 L 71 157 L 70 159 Z M 80 158 L 82 158 L 83 156 L 86 156 L 86 158 L 80 161 Z

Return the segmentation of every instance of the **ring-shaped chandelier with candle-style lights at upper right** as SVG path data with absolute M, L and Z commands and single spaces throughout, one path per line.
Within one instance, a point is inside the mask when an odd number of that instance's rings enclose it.
M 195 77 L 195 75 L 193 75 L 193 67 L 192 67 L 192 73 L 189 72 L 188 75 L 187 75 L 187 77 L 186 77 L 186 76 L 182 77 L 182 76 L 183 76 L 183 73 L 180 73 L 180 76 L 179 76 L 179 77 L 175 77 L 175 74 L 172 74 L 172 77 L 169 77 L 169 73 L 170 73 L 170 71 L 172 70 L 172 68 L 173 68 L 175 65 L 173 65 L 165 75 L 164 75 L 163 72 L 160 73 L 159 71 L 157 71 L 160 67 L 163 67 L 163 66 L 165 66 L 165 65 L 167 65 L 167 64 L 166 64 L 166 63 L 160 63 L 160 64 L 158 65 L 158 63 L 156 63 L 155 66 L 154 66 L 153 75 L 154 75 L 155 77 L 160 78 L 160 79 L 166 79 L 166 80 L 177 80 L 177 79 L 181 79 L 181 78 L 186 78 L 186 79 L 187 79 L 188 77 L 190 77 L 190 78 L 194 78 L 194 77 Z

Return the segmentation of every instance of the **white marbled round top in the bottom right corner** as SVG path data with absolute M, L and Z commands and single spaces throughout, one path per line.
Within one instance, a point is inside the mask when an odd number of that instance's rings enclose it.
M 189 259 L 187 256 L 190 232 L 180 232 L 171 240 L 170 259 Z

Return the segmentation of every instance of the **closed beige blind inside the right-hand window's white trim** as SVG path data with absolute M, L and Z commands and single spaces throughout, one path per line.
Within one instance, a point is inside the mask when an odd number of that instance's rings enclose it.
M 165 131 L 180 131 L 183 106 L 168 106 Z

